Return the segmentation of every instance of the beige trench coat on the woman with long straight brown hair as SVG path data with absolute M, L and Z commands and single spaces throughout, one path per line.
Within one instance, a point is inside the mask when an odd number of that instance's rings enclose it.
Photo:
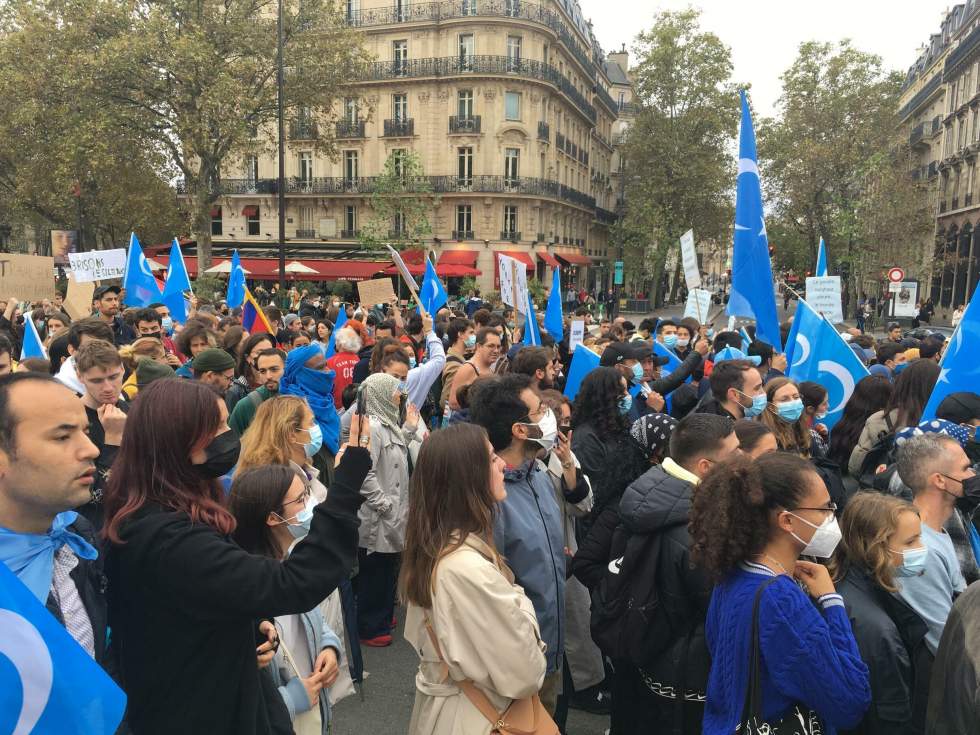
M 471 680 L 498 712 L 537 694 L 544 681 L 545 645 L 534 607 L 497 567 L 487 544 L 470 535 L 436 570 L 432 610 L 408 606 L 405 638 L 419 654 L 409 735 L 486 735 L 490 723 L 453 681 Z M 449 678 L 425 629 L 431 621 Z

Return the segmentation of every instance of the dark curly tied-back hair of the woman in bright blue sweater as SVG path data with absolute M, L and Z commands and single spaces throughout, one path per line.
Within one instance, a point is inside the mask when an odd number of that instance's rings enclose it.
M 762 553 L 772 534 L 773 511 L 796 508 L 811 479 L 820 479 L 813 465 L 789 452 L 718 464 L 694 493 L 692 560 L 721 581 L 740 562 Z

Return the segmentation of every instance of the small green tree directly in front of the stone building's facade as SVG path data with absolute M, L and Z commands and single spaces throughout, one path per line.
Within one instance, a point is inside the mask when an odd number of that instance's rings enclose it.
M 415 151 L 392 151 L 371 193 L 371 217 L 361 228 L 362 248 L 395 250 L 419 247 L 432 234 L 429 214 L 439 207 L 421 156 Z

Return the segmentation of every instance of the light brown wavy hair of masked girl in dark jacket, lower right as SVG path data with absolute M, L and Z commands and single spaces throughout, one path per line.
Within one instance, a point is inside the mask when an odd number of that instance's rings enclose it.
M 886 592 L 898 592 L 888 539 L 898 529 L 902 513 L 918 509 L 906 500 L 883 493 L 858 493 L 841 515 L 841 543 L 830 560 L 830 574 L 839 581 L 849 566 L 863 569 Z

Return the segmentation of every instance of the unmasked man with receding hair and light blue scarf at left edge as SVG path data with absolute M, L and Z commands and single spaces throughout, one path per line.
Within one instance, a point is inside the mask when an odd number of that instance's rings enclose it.
M 105 666 L 98 540 L 71 509 L 89 500 L 98 448 L 81 401 L 41 373 L 0 378 L 0 560 Z M 37 536 L 47 542 L 37 544 Z M 26 542 L 25 542 L 26 541 Z

